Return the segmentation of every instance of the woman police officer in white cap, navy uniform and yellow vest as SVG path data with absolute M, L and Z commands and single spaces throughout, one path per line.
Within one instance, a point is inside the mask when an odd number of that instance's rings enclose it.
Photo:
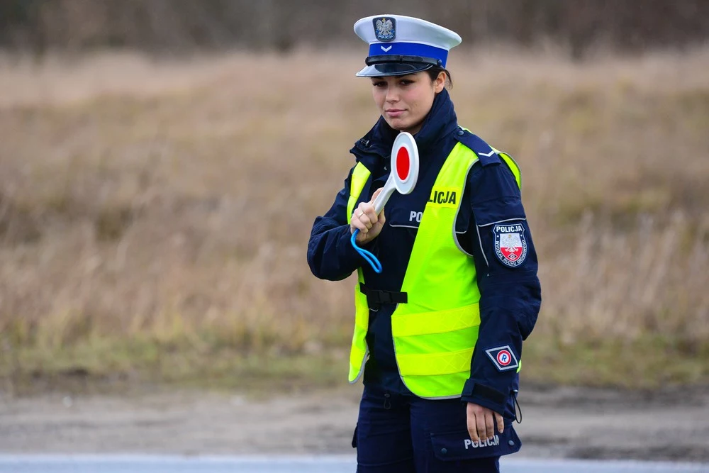
M 513 428 L 522 342 L 540 308 L 520 169 L 457 123 L 447 86 L 459 35 L 407 16 L 362 18 L 381 115 L 350 150 L 356 164 L 316 218 L 308 264 L 322 279 L 357 270 L 350 382 L 364 380 L 358 472 L 498 472 Z M 411 194 L 376 215 L 399 132 L 420 154 Z M 350 238 L 373 252 L 375 272 Z

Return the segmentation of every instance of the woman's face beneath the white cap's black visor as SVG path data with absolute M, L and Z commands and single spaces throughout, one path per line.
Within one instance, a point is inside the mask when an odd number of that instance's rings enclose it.
M 421 129 L 433 99 L 445 86 L 445 73 L 431 80 L 428 72 L 372 77 L 372 96 L 379 113 L 394 130 L 412 135 Z

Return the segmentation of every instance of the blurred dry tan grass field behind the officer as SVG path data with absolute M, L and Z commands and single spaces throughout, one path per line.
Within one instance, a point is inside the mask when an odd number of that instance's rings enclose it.
M 342 382 L 352 284 L 306 243 L 376 120 L 359 52 L 0 58 L 0 379 Z M 523 167 L 533 382 L 709 382 L 709 48 L 459 51 Z

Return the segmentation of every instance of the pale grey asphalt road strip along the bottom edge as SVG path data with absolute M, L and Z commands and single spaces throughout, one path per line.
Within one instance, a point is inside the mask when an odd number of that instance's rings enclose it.
M 351 455 L 0 455 L 0 473 L 352 473 Z M 709 473 L 709 464 L 503 458 L 503 473 Z

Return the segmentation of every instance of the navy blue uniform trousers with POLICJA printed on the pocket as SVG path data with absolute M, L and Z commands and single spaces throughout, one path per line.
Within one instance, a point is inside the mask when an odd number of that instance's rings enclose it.
M 512 425 L 491 443 L 470 440 L 466 404 L 430 401 L 364 386 L 352 446 L 358 473 L 498 473 L 519 450 Z

